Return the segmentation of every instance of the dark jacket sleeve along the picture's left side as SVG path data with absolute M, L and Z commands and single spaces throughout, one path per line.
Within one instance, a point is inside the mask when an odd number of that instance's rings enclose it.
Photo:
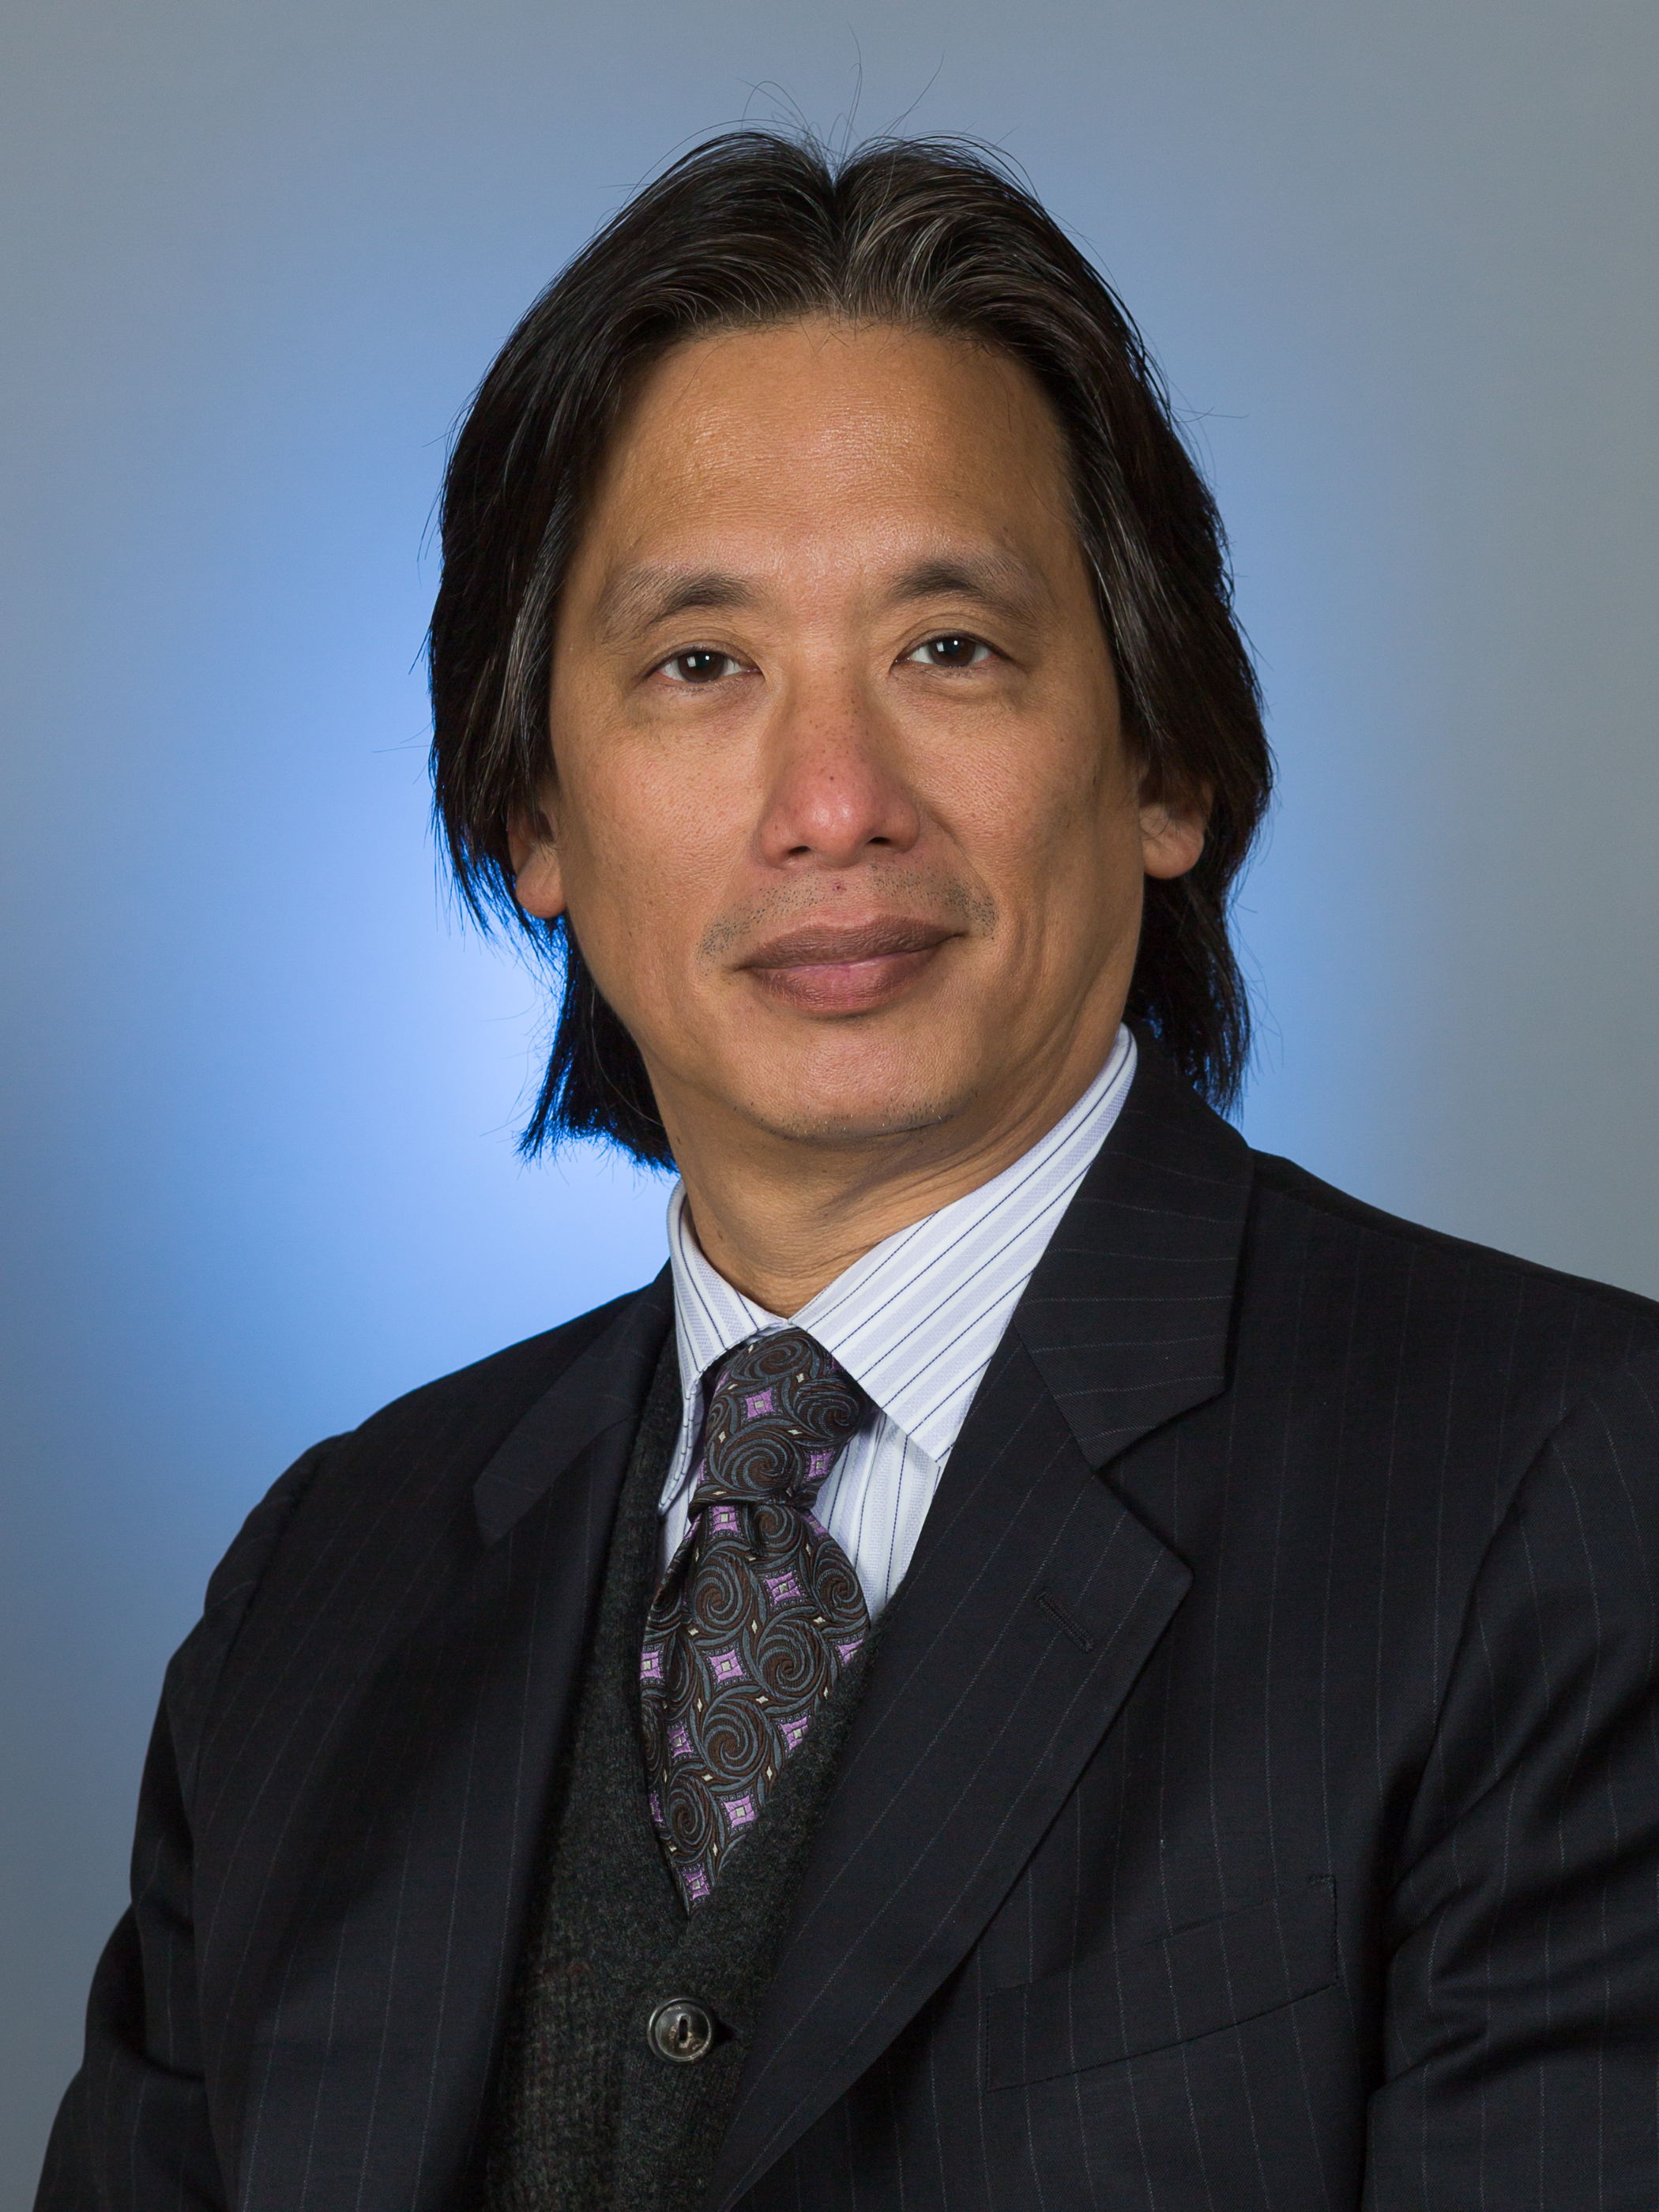
M 221 2212 L 195 1989 L 188 1792 L 201 1721 L 276 1542 L 327 1444 L 248 1515 L 175 1652 L 139 1785 L 133 1905 L 86 2006 L 82 2068 L 46 2146 L 35 2212 Z

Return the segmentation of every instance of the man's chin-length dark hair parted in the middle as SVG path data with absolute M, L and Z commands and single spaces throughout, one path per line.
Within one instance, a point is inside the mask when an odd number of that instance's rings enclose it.
M 1128 1015 L 1228 1106 L 1250 1048 L 1228 896 L 1272 759 L 1221 522 L 1135 323 L 984 148 L 900 139 L 834 159 L 737 131 L 646 186 L 542 292 L 478 387 L 445 476 L 436 812 L 473 916 L 524 925 L 562 978 L 524 1150 L 608 1137 L 668 1164 L 633 1037 L 568 922 L 518 907 L 507 845 L 509 816 L 535 812 L 549 765 L 553 617 L 595 465 L 624 394 L 668 347 L 803 314 L 960 334 L 1024 363 L 1046 392 L 1128 743 L 1152 794 L 1210 796 L 1197 867 L 1146 883 Z

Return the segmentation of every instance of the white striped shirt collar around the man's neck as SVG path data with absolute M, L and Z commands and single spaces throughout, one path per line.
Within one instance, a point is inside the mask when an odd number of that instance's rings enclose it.
M 1099 1152 L 1135 1077 L 1135 1040 L 1119 1029 L 1106 1066 L 1077 1104 L 989 1183 L 896 1230 L 787 1325 L 805 1329 L 922 1451 L 945 1460 L 980 1376 L 1044 1245 Z M 710 1265 L 686 1212 L 668 1199 L 668 1261 L 686 1425 L 703 1376 L 748 1336 L 781 1329 Z

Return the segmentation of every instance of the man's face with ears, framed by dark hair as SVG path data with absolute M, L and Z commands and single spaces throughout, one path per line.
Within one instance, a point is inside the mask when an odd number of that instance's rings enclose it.
M 551 737 L 518 894 L 568 911 L 681 1159 L 717 1126 L 978 1144 L 1075 1095 L 1141 876 L 1201 843 L 1141 807 L 1037 385 L 891 327 L 708 338 L 644 378 Z

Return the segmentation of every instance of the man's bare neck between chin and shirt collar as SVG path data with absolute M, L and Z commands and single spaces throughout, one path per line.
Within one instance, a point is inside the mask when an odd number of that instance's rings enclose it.
M 1115 1037 L 1115 1024 L 1113 1024 Z M 887 1237 L 980 1190 L 1071 1113 L 1110 1053 L 1084 1048 L 1000 1113 L 847 1144 L 734 1130 L 675 1133 L 703 1256 L 770 1314 L 799 1314 Z M 723 1139 L 723 1141 L 721 1141 Z

